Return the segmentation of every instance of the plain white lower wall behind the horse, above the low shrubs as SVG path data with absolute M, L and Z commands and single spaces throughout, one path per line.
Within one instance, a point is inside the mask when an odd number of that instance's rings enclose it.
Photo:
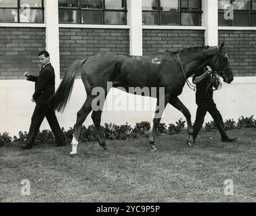
M 0 80 L 0 132 L 8 132 L 11 136 L 18 135 L 19 131 L 28 132 L 30 126 L 30 118 L 32 116 L 33 110 L 35 108 L 35 103 L 30 101 L 34 91 L 34 83 L 28 82 L 26 80 Z M 120 90 L 114 90 L 115 93 L 121 92 Z M 215 103 L 217 108 L 223 115 L 223 119 L 234 119 L 237 121 L 238 117 L 243 115 L 244 117 L 249 117 L 254 115 L 256 118 L 256 78 L 235 78 L 232 84 L 223 84 L 221 90 L 214 92 Z M 110 91 L 111 95 L 111 91 Z M 114 105 L 112 99 L 108 95 L 105 109 L 116 109 L 119 105 Z M 133 96 L 125 92 L 121 92 L 123 97 L 129 95 L 129 100 L 135 98 L 142 98 L 140 96 Z M 77 111 L 83 105 L 85 101 L 86 94 L 81 80 L 76 80 L 74 84 L 74 89 L 72 91 L 72 96 L 70 101 L 64 111 L 64 113 L 57 113 L 57 117 L 61 127 L 68 130 L 69 127 L 74 126 Z M 114 97 L 116 99 L 116 97 Z M 148 101 L 146 109 L 149 111 L 104 111 L 102 114 L 102 124 L 104 122 L 114 123 L 114 124 L 131 124 L 134 126 L 136 122 L 140 121 L 150 121 L 154 115 L 154 105 L 156 100 L 143 97 L 143 99 Z M 194 121 L 196 115 L 196 104 L 195 96 L 193 90 L 184 86 L 184 91 L 179 99 L 188 107 L 192 114 L 192 121 Z M 139 109 L 138 106 L 136 109 Z M 123 104 L 122 109 L 127 109 L 125 104 Z M 91 113 L 85 120 L 85 126 L 93 124 L 90 117 Z M 185 120 L 185 117 L 177 111 L 171 105 L 167 105 L 163 119 L 161 122 L 173 123 L 179 118 Z M 211 121 L 211 116 L 207 113 L 205 117 L 205 122 Z M 151 124 L 152 126 L 152 124 Z M 47 120 L 43 121 L 41 130 L 49 129 Z

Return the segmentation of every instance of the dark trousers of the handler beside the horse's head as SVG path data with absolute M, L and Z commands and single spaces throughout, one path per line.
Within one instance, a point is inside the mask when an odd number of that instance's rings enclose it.
M 213 120 L 215 121 L 221 138 L 228 138 L 228 135 L 226 134 L 226 131 L 224 129 L 221 113 L 219 113 L 219 110 L 217 109 L 213 99 L 196 99 L 196 105 L 198 107 L 196 110 L 196 120 L 194 121 L 193 125 L 194 140 L 196 139 L 196 136 L 198 135 L 200 129 L 202 128 L 202 124 L 205 121 L 205 115 L 207 112 L 209 112 L 211 117 L 213 117 Z

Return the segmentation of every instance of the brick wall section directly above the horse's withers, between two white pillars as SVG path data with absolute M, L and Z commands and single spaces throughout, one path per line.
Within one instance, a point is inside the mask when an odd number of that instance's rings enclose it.
M 204 30 L 143 30 L 143 55 L 205 45 Z

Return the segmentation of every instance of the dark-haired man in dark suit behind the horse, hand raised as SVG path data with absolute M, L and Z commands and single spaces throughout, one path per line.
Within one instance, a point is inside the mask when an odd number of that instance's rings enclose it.
M 26 143 L 20 145 L 20 147 L 24 149 L 33 147 L 35 138 L 37 137 L 39 128 L 45 117 L 56 138 L 56 146 L 63 146 L 66 144 L 55 111 L 47 104 L 47 100 L 55 92 L 55 74 L 54 68 L 49 61 L 49 53 L 47 51 L 41 51 L 39 53 L 39 61 L 42 65 L 39 76 L 32 76 L 28 72 L 24 73 L 26 80 L 35 82 L 35 93 L 33 94 L 31 101 L 36 103 Z

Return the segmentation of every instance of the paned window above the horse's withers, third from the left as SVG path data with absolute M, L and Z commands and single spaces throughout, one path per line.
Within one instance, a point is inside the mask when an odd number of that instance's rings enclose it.
M 144 25 L 200 26 L 201 0 L 142 0 Z

